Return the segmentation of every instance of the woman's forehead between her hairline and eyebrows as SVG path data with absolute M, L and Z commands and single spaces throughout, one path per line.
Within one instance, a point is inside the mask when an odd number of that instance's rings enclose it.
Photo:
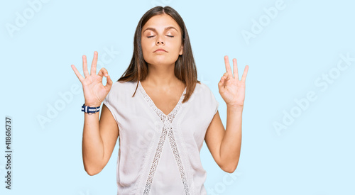
M 147 23 L 143 26 L 142 32 L 146 30 L 146 28 L 155 28 L 157 30 L 164 30 L 166 27 L 173 26 L 178 32 L 180 32 L 180 27 L 178 23 L 169 15 L 162 14 L 151 17 Z

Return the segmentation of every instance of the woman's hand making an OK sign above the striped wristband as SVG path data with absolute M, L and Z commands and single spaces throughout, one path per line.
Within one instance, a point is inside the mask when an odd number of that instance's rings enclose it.
M 87 57 L 82 56 L 82 69 L 84 71 L 84 77 L 77 71 L 77 68 L 72 65 L 72 69 L 77 78 L 82 83 L 82 89 L 84 90 L 85 106 L 98 107 L 101 106 L 102 101 L 106 98 L 107 94 L 112 87 L 112 80 L 104 67 L 100 69 L 99 73 L 96 74 L 97 65 L 97 51 L 94 52 L 94 59 L 91 65 L 91 74 L 87 70 Z M 102 84 L 102 78 L 107 78 L 107 84 L 104 86 Z

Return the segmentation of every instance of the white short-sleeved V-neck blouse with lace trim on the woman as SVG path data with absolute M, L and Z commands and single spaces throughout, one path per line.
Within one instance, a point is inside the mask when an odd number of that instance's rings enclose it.
M 167 115 L 138 82 L 115 82 L 104 99 L 119 126 L 117 194 L 207 194 L 200 150 L 219 106 L 206 84 L 186 88 Z M 163 97 L 162 97 L 163 98 Z

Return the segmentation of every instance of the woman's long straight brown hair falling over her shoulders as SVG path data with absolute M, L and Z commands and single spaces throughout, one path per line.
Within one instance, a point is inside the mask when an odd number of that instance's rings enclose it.
M 131 63 L 129 64 L 129 67 L 126 69 L 124 74 L 122 74 L 121 78 L 117 80 L 117 82 L 137 82 L 137 91 L 138 81 L 143 81 L 146 79 L 148 74 L 148 65 L 143 58 L 141 32 L 143 26 L 151 17 L 162 14 L 168 14 L 170 17 L 172 17 L 176 23 L 178 23 L 182 32 L 182 55 L 179 55 L 178 60 L 175 62 L 174 73 L 175 77 L 180 79 L 186 85 L 185 98 L 182 100 L 182 103 L 185 103 L 190 99 L 192 92 L 195 90 L 196 83 L 200 84 L 200 81 L 197 80 L 197 68 L 195 65 L 194 57 L 192 55 L 190 38 L 187 33 L 185 23 L 179 13 L 170 6 L 156 6 L 144 13 L 141 20 L 138 22 L 136 33 L 134 33 L 134 49 Z M 134 91 L 133 96 L 136 94 L 136 91 Z

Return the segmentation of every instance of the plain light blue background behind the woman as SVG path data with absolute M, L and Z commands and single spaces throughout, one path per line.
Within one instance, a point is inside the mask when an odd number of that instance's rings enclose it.
M 48 1 L 13 33 L 6 26 L 16 26 L 16 12 L 23 16 L 31 6 L 3 1 L 1 123 L 4 127 L 5 116 L 13 118 L 13 189 L 1 182 L 0 194 L 116 194 L 118 145 L 102 172 L 84 172 L 84 96 L 70 65 L 82 72 L 82 55 L 91 64 L 95 50 L 100 60 L 105 48 L 113 48 L 119 54 L 107 57 L 104 67 L 119 79 L 131 60 L 136 25 L 156 2 L 172 6 L 184 19 L 198 78 L 219 101 L 224 126 L 226 105 L 217 87 L 225 72 L 223 57 L 238 60 L 239 77 L 249 65 L 236 172 L 223 172 L 205 145 L 201 151 L 209 194 L 355 194 L 355 62 L 343 63 L 347 69 L 336 75 L 340 55 L 355 58 L 355 4 L 305 0 L 283 1 L 284 9 L 269 22 L 263 9 L 275 7 L 276 0 Z M 252 32 L 252 20 L 264 20 L 264 26 L 247 40 L 242 32 Z M 322 91 L 315 81 L 329 72 L 334 82 Z M 80 94 L 42 128 L 38 116 L 47 117 L 48 105 L 62 100 L 59 93 L 78 85 Z M 309 91 L 317 99 L 278 133 L 273 123 L 283 123 L 284 111 L 296 113 L 294 99 L 305 99 Z M 4 140 L 0 133 L 3 152 Z M 5 164 L 1 157 L 0 181 Z

